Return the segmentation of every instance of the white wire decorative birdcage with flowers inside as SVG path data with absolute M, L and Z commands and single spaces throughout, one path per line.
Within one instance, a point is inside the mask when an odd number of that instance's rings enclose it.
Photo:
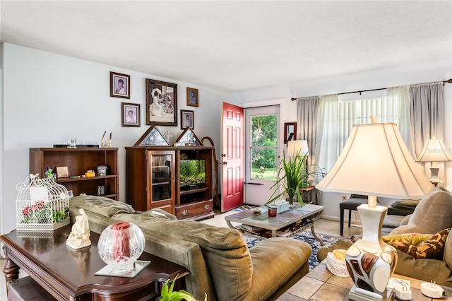
M 68 190 L 54 178 L 30 175 L 16 189 L 18 231 L 52 231 L 69 225 Z

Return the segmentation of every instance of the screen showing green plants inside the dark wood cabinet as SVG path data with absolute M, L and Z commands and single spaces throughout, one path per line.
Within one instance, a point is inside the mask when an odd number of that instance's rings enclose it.
M 179 173 L 181 189 L 206 187 L 206 160 L 180 160 Z

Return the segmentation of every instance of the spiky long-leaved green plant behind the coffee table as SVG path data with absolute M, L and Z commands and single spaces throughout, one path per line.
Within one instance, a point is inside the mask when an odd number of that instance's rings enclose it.
M 297 196 L 299 204 L 301 206 L 304 205 L 299 188 L 308 186 L 308 179 L 311 175 L 323 175 L 321 170 L 313 170 L 307 165 L 307 155 L 300 155 L 297 152 L 293 158 L 286 160 L 285 153 L 283 152 L 283 160 L 280 161 L 277 167 L 278 180 L 270 187 L 270 189 L 275 190 L 267 201 L 267 205 L 283 196 L 287 196 L 287 201 L 289 201 L 290 206 L 293 206 L 295 196 Z

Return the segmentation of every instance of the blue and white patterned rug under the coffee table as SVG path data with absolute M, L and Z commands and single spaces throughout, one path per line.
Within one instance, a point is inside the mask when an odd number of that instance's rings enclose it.
M 321 233 L 316 233 L 316 235 L 319 236 L 321 238 L 321 240 L 323 240 L 323 244 L 331 244 L 332 242 L 335 242 L 336 240 L 338 240 L 338 237 L 334 237 L 331 235 L 325 235 L 325 234 L 321 234 Z M 261 242 L 262 240 L 266 240 L 265 237 L 256 237 L 256 236 L 249 236 L 249 235 L 243 235 L 243 236 L 244 236 L 244 239 L 245 239 L 245 242 L 246 242 L 246 245 L 248 246 L 248 248 L 252 248 L 256 244 Z M 292 236 L 292 238 L 295 240 L 302 240 L 303 242 L 307 242 L 308 244 L 311 245 L 312 254 L 309 257 L 309 271 L 311 271 L 313 268 L 315 268 L 319 264 L 319 261 L 317 260 L 317 252 L 319 251 L 319 249 L 321 247 L 319 240 L 316 240 L 314 235 L 312 235 L 311 231 L 309 231 L 309 230 L 300 232 L 300 233 Z

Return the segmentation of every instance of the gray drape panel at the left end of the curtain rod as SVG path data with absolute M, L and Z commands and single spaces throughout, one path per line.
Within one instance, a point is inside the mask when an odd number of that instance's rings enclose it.
M 317 114 L 319 111 L 319 96 L 299 98 L 297 101 L 297 140 L 307 140 L 309 147 L 308 164 L 316 162 Z

